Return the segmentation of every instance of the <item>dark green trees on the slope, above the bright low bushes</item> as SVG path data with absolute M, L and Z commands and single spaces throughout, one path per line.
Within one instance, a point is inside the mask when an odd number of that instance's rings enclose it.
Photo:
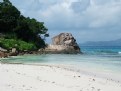
M 5 34 L 5 38 L 20 39 L 41 48 L 45 42 L 40 35 L 49 37 L 47 31 L 44 22 L 24 17 L 9 0 L 0 2 L 0 33 Z

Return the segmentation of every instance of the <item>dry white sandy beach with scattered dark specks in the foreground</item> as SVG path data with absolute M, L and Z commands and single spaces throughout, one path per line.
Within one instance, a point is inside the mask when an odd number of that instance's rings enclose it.
M 121 83 L 61 66 L 0 64 L 0 91 L 121 91 Z

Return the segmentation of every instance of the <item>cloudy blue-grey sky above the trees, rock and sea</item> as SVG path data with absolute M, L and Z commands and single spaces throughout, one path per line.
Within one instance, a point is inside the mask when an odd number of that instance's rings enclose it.
M 72 33 L 78 43 L 121 38 L 121 0 L 10 1 L 24 16 L 45 23 L 47 41 L 62 32 Z

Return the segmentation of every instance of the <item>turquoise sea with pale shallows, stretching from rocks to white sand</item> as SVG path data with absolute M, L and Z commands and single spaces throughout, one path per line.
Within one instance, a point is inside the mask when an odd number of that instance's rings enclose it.
M 24 55 L 0 59 L 4 63 L 66 65 L 84 74 L 121 82 L 121 46 L 80 46 L 83 54 Z

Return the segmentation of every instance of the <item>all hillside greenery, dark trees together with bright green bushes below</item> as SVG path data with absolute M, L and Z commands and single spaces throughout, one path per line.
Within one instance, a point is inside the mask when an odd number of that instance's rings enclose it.
M 18 50 L 44 48 L 41 38 L 49 37 L 43 22 L 21 15 L 9 0 L 0 2 L 0 46 L 6 49 L 16 47 Z M 15 46 L 16 45 L 16 46 Z

